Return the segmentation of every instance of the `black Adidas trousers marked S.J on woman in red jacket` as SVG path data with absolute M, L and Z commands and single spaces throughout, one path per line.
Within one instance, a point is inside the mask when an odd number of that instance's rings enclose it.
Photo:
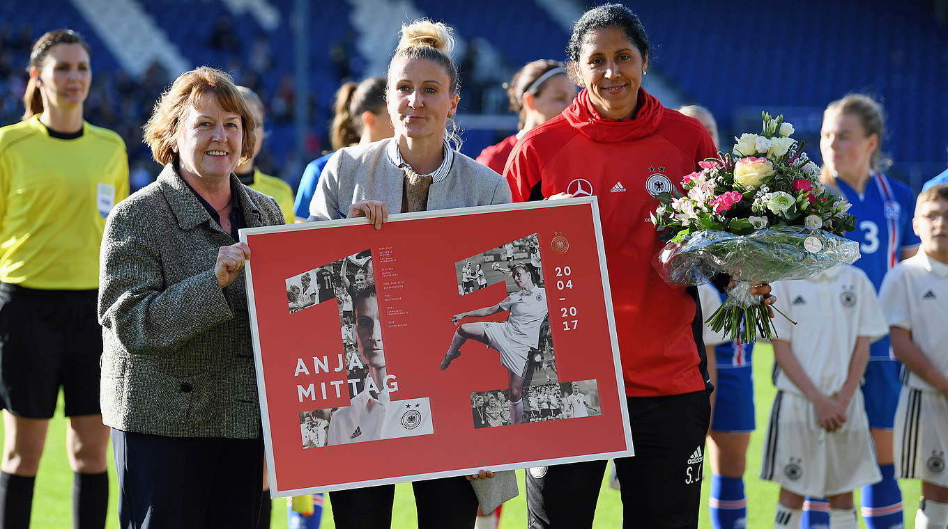
M 629 397 L 635 455 L 615 460 L 624 529 L 692 529 L 701 506 L 707 392 Z M 531 529 L 593 527 L 605 461 L 527 470 Z

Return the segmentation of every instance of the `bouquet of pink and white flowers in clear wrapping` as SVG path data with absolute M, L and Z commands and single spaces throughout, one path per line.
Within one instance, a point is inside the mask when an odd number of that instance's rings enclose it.
M 649 215 L 668 241 L 653 260 L 666 281 L 735 279 L 707 323 L 744 343 L 774 337 L 753 285 L 812 277 L 859 258 L 859 245 L 842 237 L 855 228 L 850 204 L 820 184 L 819 168 L 791 137 L 793 125 L 782 115 L 762 117 L 760 134 L 743 133 L 733 152 L 699 162 L 701 170 L 684 177 L 684 195 L 677 188 L 658 195 Z

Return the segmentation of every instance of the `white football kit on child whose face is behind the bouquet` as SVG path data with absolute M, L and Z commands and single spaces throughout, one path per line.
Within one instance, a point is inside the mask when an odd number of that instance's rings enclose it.
M 790 342 L 793 357 L 819 391 L 842 389 L 857 338 L 884 336 L 882 309 L 866 273 L 853 266 L 831 268 L 812 279 L 772 284 L 781 310 L 776 338 Z M 789 309 L 788 309 L 789 307 Z M 869 436 L 862 390 L 848 403 L 847 420 L 835 432 L 817 424 L 816 409 L 793 381 L 775 366 L 779 390 L 771 409 L 760 477 L 801 496 L 842 494 L 882 480 Z

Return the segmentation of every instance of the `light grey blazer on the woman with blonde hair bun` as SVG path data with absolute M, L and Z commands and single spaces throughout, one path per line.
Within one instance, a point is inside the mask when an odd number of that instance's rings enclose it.
M 395 167 L 385 150 L 394 138 L 337 150 L 322 169 L 309 206 L 310 220 L 339 219 L 349 206 L 364 200 L 387 203 L 389 213 L 402 210 L 405 173 Z M 428 211 L 510 203 L 510 185 L 493 169 L 460 152 L 444 181 L 428 187 Z

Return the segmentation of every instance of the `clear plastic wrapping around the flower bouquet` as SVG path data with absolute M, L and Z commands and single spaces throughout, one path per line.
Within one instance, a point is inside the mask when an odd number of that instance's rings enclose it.
M 758 284 L 813 277 L 858 258 L 859 243 L 853 240 L 824 230 L 788 226 L 744 236 L 695 232 L 680 243 L 666 244 L 652 264 L 669 283 L 702 285 L 714 275 L 726 273 L 738 283 Z

